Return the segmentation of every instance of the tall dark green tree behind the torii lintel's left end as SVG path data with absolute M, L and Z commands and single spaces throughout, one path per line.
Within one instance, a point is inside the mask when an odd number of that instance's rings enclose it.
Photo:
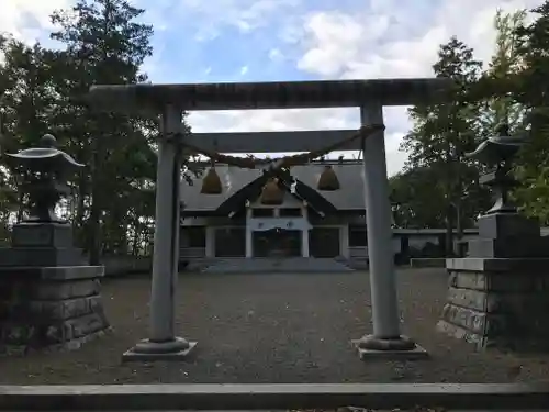
M 150 202 L 141 202 L 139 197 L 149 197 L 143 189 L 152 186 L 155 175 L 149 142 L 155 121 L 98 113 L 82 101 L 92 85 L 146 80 L 139 69 L 153 52 L 153 27 L 137 22 L 143 13 L 125 0 L 79 0 L 71 10 L 52 16 L 60 27 L 52 38 L 66 46 L 57 60 L 64 104 L 56 123 L 79 152 L 78 158 L 89 165 L 78 185 L 77 221 L 83 226 L 91 264 L 104 250 L 127 252 L 130 225 L 135 225 L 136 216 L 153 212 Z

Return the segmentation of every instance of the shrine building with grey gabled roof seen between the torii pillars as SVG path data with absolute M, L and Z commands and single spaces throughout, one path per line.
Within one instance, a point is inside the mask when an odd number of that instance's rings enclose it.
M 362 160 L 280 170 L 223 164 L 181 188 L 180 256 L 367 256 Z

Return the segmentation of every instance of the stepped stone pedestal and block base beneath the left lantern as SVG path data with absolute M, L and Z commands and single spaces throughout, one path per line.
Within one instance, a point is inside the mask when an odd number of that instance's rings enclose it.
M 0 248 L 0 354 L 75 349 L 102 335 L 103 271 L 85 265 L 69 223 L 35 213 L 15 224 Z

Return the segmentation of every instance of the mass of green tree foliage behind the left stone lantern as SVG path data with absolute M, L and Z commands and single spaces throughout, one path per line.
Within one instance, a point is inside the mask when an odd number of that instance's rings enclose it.
M 54 49 L 0 38 L 2 151 L 36 145 L 52 133 L 87 166 L 64 212 L 91 263 L 102 253 L 146 253 L 150 243 L 157 120 L 99 113 L 83 99 L 92 85 L 146 81 L 141 68 L 153 52 L 153 27 L 138 22 L 143 12 L 125 0 L 79 0 L 53 13 Z M 21 199 L 4 167 L 0 179 L 7 227 Z

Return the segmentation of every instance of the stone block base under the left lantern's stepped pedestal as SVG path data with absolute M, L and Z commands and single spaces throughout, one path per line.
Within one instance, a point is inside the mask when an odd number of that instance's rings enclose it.
M 102 267 L 12 268 L 0 272 L 0 354 L 76 349 L 109 329 Z

